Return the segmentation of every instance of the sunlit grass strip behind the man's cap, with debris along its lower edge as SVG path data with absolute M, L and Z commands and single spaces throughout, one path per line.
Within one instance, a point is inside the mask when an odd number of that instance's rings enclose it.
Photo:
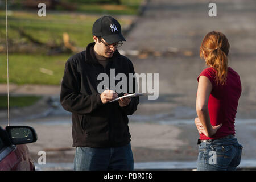
M 84 15 L 76 13 L 47 13 L 46 17 L 39 17 L 36 13 L 25 11 L 11 11 L 9 13 L 8 35 L 10 41 L 24 43 L 26 38 L 19 35 L 22 29 L 32 38 L 42 43 L 63 41 L 63 33 L 69 34 L 69 39 L 75 46 L 85 47 L 92 42 L 92 26 L 101 15 Z M 130 23 L 129 19 L 119 20 L 121 26 Z M 0 40 L 5 43 L 5 11 L 0 11 Z

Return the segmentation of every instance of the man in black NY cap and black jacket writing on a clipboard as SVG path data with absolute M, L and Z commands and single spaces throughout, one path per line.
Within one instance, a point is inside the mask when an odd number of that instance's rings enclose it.
M 74 169 L 133 170 L 127 115 L 137 110 L 139 97 L 109 103 L 127 94 L 129 84 L 126 93 L 109 90 L 110 82 L 104 92 L 98 92 L 100 73 L 111 80 L 110 69 L 114 69 L 115 75 L 123 73 L 129 82 L 129 73 L 134 74 L 133 64 L 117 50 L 125 38 L 116 19 L 111 16 L 97 19 L 92 32 L 94 42 L 68 59 L 61 82 L 61 105 L 72 112 Z M 117 81 L 114 82 L 116 85 Z

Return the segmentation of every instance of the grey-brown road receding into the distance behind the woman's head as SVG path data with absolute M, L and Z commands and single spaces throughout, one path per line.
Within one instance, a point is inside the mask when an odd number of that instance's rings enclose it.
M 195 110 L 197 76 L 205 68 L 200 44 L 209 31 L 217 30 L 227 36 L 229 66 L 241 76 L 237 118 L 256 118 L 256 2 L 217 2 L 217 17 L 208 16 L 208 5 L 208 1 L 150 1 L 137 20 L 121 48 L 141 52 L 141 56 L 127 56 L 135 72 L 159 73 L 160 93 L 148 106 L 148 101 L 142 101 L 138 112 L 172 113 L 177 107 Z

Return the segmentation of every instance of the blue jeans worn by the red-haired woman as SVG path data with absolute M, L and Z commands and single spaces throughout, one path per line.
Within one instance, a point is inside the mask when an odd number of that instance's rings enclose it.
M 202 142 L 197 159 L 198 171 L 235 171 L 240 164 L 242 146 L 236 138 Z

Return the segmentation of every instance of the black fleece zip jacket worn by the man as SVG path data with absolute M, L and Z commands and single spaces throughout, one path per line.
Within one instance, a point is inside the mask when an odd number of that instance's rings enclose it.
M 60 102 L 65 110 L 72 112 L 73 147 L 123 146 L 130 142 L 131 137 L 127 115 L 137 110 L 139 97 L 131 98 L 130 104 L 125 107 L 119 106 L 118 102 L 102 104 L 97 91 L 101 80 L 97 80 L 97 77 L 100 73 L 110 77 L 110 69 L 115 69 L 115 75 L 124 73 L 128 92 L 128 74 L 134 73 L 133 64 L 115 51 L 104 69 L 90 53 L 94 44 L 88 44 L 86 51 L 71 56 L 65 63 Z M 115 81 L 115 85 L 117 83 Z

